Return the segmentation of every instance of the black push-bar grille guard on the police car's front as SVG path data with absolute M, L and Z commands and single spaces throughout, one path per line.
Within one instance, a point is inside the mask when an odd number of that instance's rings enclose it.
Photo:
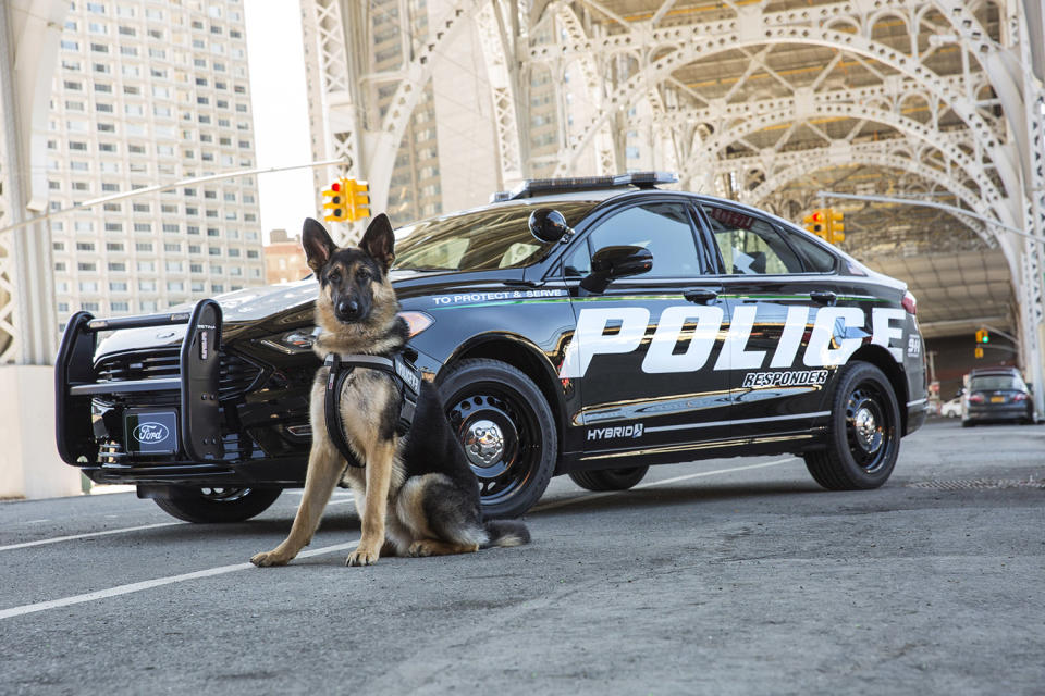
M 220 460 L 224 455 L 219 412 L 221 321 L 221 306 L 212 299 L 196 302 L 190 312 L 115 319 L 95 319 L 90 312 L 73 314 L 54 364 L 56 438 L 62 460 L 74 467 L 97 461 L 99 443 L 91 413 L 95 396 L 175 389 L 181 396 L 181 450 L 192 461 Z M 175 324 L 188 324 L 179 353 L 179 380 L 98 382 L 94 362 L 98 332 Z

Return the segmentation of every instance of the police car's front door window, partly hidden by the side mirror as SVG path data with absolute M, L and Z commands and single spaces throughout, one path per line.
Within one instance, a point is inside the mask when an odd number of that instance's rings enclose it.
M 616 246 L 649 249 L 653 254 L 653 269 L 641 277 L 688 277 L 705 272 L 697 253 L 689 212 L 679 203 L 643 203 L 622 210 L 592 231 L 589 244 L 591 252 Z M 564 272 L 569 275 L 570 269 L 590 271 L 589 259 L 576 258 L 587 252 L 581 247 L 568 257 Z

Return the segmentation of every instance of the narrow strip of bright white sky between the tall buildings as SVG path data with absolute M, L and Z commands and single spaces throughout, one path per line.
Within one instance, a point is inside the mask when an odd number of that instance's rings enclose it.
M 312 154 L 300 2 L 245 0 L 244 10 L 258 166 L 307 164 Z M 272 229 L 299 234 L 305 217 L 316 215 L 311 170 L 262 174 L 257 181 L 266 241 Z

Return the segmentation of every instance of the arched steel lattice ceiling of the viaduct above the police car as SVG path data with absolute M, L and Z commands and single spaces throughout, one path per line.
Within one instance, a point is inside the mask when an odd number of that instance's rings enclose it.
M 648 128 L 655 135 L 646 142 L 671 144 L 672 157 L 651 152 L 626 166 L 677 163 L 685 188 L 791 220 L 825 204 L 817 192 L 837 191 L 1022 223 L 1012 206 L 1018 175 L 1005 154 L 1011 124 L 984 71 L 988 51 L 1009 40 L 1011 8 L 890 0 L 533 7 L 541 9 L 530 70 L 554 79 L 583 57 L 602 91 L 598 109 L 568 120 L 566 147 L 551 161 L 534 160 L 531 173 L 582 173 L 606 127 L 616 139 L 611 165 L 624 169 L 620 153 L 637 144 L 628 132 Z M 562 21 L 567 14 L 576 18 Z M 1018 322 L 1015 257 L 999 245 L 999 227 L 927 208 L 826 204 L 846 215 L 843 248 L 921 295 L 926 334 Z

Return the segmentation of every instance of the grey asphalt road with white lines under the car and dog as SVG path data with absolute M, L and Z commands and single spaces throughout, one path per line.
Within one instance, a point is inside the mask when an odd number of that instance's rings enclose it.
M 553 481 L 530 546 L 345 568 L 335 494 L 193 525 L 133 494 L 0 504 L 0 693 L 1042 694 L 1045 427 L 931 423 L 885 487 L 800 460 Z M 61 538 L 70 537 L 70 538 Z

